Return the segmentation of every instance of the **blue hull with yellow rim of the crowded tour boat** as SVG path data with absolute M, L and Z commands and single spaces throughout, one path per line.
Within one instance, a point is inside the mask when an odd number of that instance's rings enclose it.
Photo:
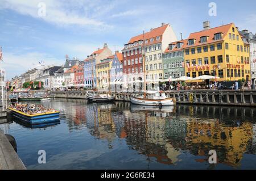
M 29 124 L 46 124 L 46 123 L 53 123 L 59 121 L 60 119 L 60 112 L 47 112 L 47 113 L 38 113 L 35 115 L 28 115 L 27 113 L 15 110 L 13 108 L 9 108 L 13 112 L 13 116 L 22 120 Z

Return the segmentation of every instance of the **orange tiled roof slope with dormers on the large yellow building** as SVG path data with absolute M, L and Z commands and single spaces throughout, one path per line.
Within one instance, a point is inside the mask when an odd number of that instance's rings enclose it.
M 230 30 L 230 28 L 233 26 L 233 24 L 234 23 L 230 23 L 230 24 L 226 24 L 224 26 L 210 28 L 209 30 L 203 30 L 203 31 L 191 33 L 188 37 L 188 40 L 195 39 L 195 44 L 188 45 L 186 43 L 183 48 L 195 47 L 195 46 L 200 46 L 200 45 L 204 45 L 204 44 L 214 43 L 217 41 L 222 41 L 224 39 L 224 37 L 226 36 L 226 34 L 228 33 L 228 31 Z M 214 35 L 216 33 L 223 33 L 222 39 L 214 40 Z M 200 43 L 200 37 L 203 37 L 203 36 L 208 36 L 208 40 L 205 43 Z

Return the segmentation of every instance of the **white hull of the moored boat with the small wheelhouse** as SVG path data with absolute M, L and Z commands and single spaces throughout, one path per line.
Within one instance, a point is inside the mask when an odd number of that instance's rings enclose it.
M 174 106 L 174 101 L 172 99 L 153 100 L 131 97 L 131 103 L 143 106 Z

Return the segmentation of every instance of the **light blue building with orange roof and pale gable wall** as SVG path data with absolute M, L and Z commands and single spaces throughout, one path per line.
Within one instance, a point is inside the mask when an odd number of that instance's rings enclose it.
M 112 51 L 108 48 L 108 44 L 104 44 L 102 49 L 98 48 L 90 56 L 84 60 L 84 83 L 97 87 L 96 64 L 100 64 L 100 60 L 112 56 Z

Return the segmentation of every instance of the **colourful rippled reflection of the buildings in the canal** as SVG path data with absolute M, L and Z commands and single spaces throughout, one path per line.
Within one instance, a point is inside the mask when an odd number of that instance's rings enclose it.
M 117 137 L 125 138 L 129 148 L 146 155 L 148 162 L 177 164 L 181 154 L 189 152 L 200 156 L 196 162 L 208 164 L 208 152 L 214 149 L 218 163 L 239 167 L 243 154 L 255 154 L 256 126 L 249 121 L 254 109 L 178 105 L 164 111 L 129 109 L 120 102 L 86 108 L 86 125 L 93 136 L 109 145 Z

